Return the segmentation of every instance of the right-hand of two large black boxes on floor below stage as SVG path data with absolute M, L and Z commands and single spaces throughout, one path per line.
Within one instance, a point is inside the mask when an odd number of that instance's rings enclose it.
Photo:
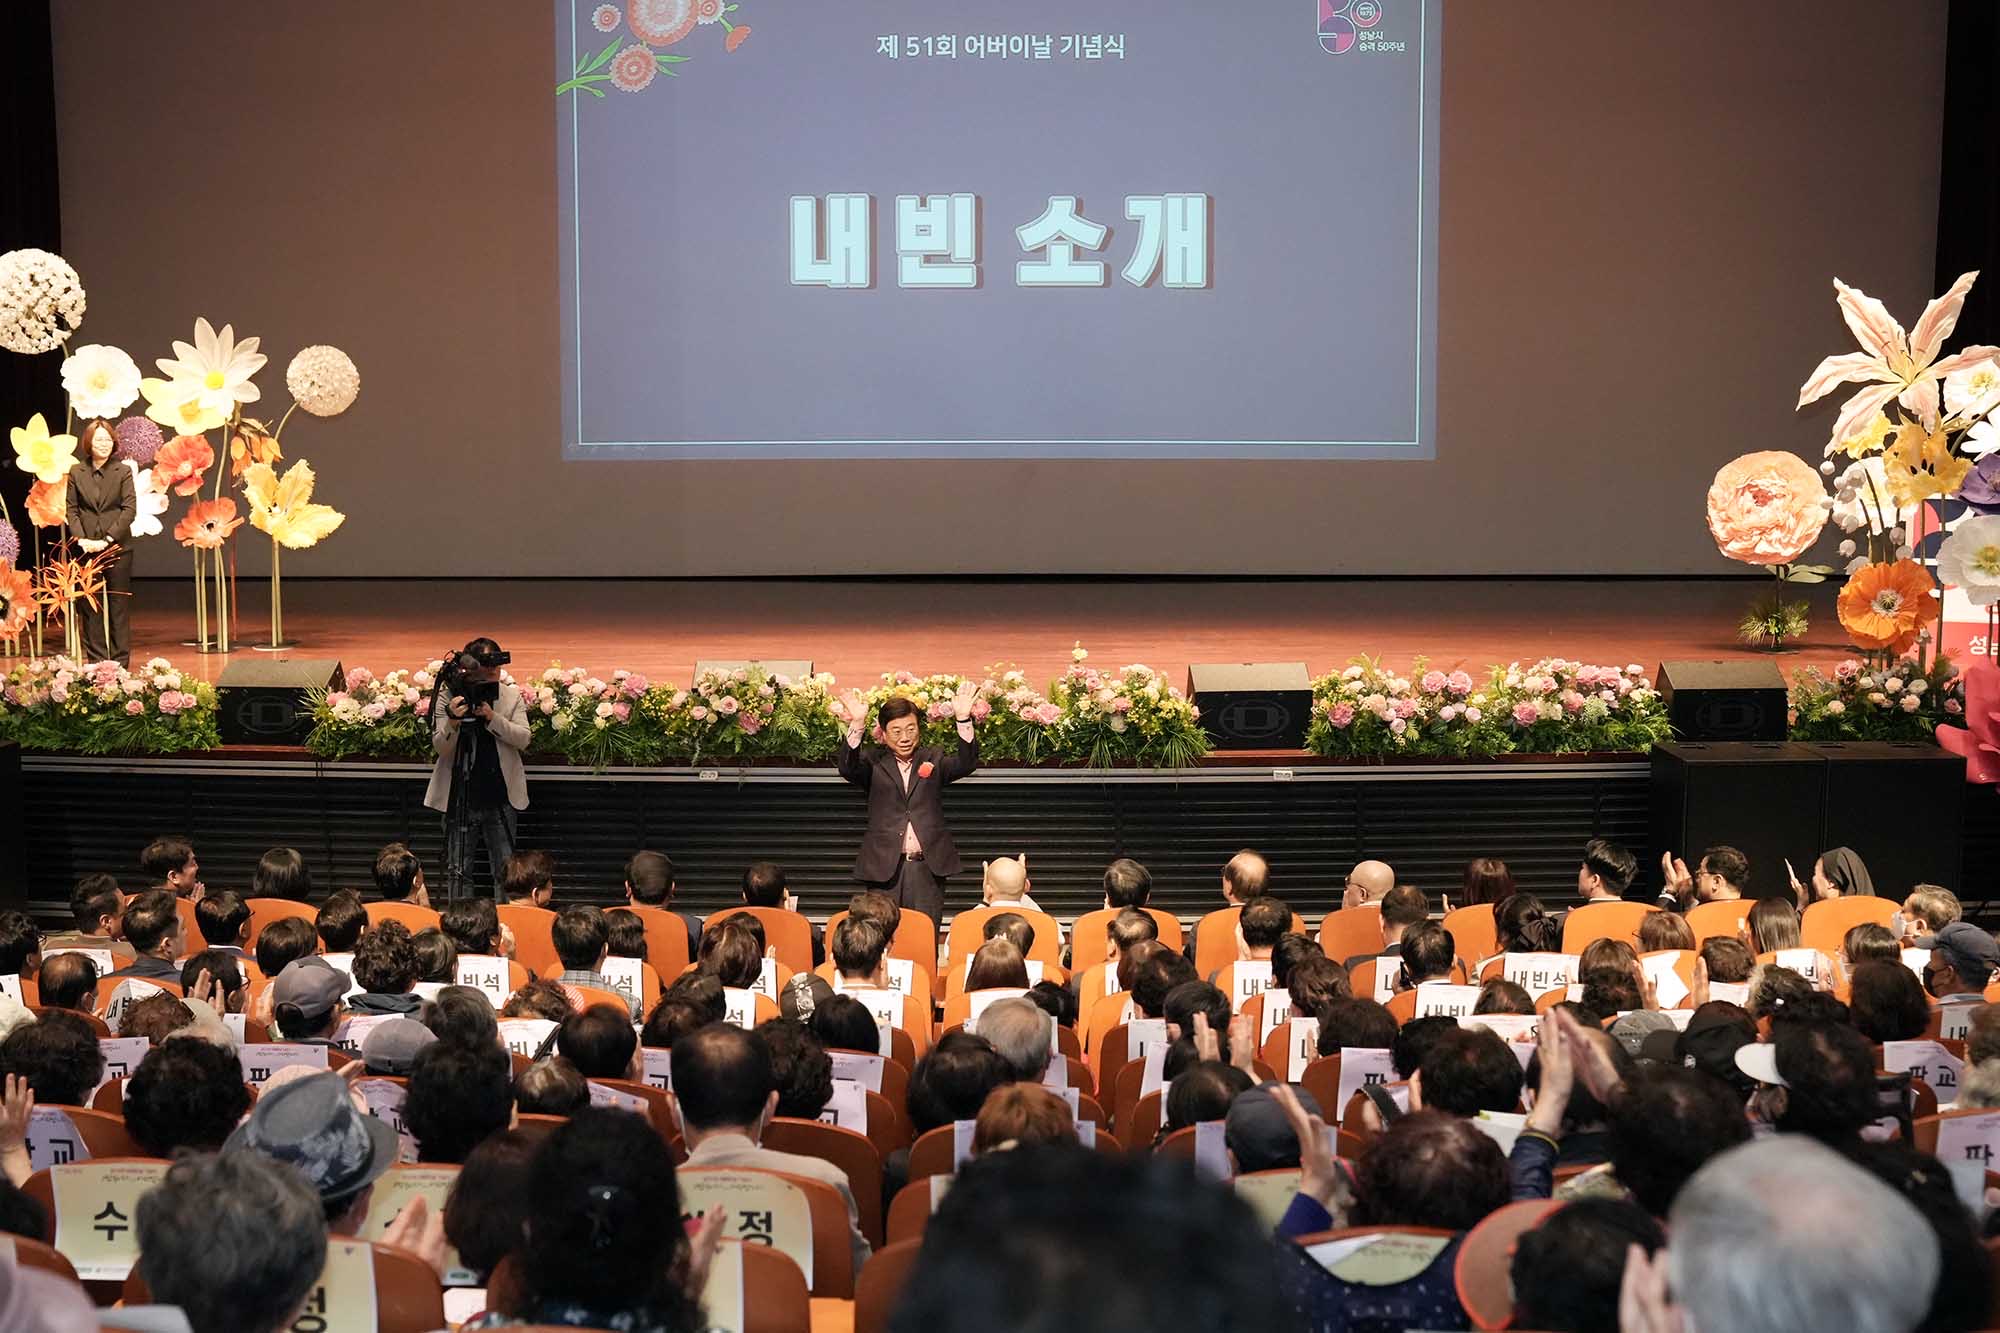
M 1928 741 L 1838 741 L 1810 745 L 1826 759 L 1826 817 L 1820 851 L 1850 847 L 1876 893 L 1898 903 L 1910 885 L 1964 885 L 1966 761 Z M 1894 801 L 1894 819 L 1882 801 Z M 1794 861 L 1800 879 L 1812 867 Z M 1984 885 L 1978 887 L 1984 893 Z

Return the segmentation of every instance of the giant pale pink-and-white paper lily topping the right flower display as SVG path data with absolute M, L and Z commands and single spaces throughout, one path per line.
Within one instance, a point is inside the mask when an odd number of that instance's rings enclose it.
M 1966 292 L 1972 290 L 1978 276 L 1978 270 L 1960 274 L 1958 282 L 1952 282 L 1952 290 L 1924 306 L 1924 318 L 1910 332 L 1904 332 L 1880 300 L 1834 278 L 1840 316 L 1848 322 L 1862 350 L 1822 360 L 1798 390 L 1798 406 L 1818 402 L 1840 384 L 1866 384 L 1866 388 L 1840 404 L 1834 434 L 1826 442 L 1828 454 L 1860 434 L 1874 414 L 1890 402 L 1900 402 L 1926 430 L 1934 428 L 1938 424 L 1938 380 L 2000 354 L 2000 348 L 1968 346 L 1938 360 L 1938 348 L 1958 326 L 1958 310 L 1966 304 Z

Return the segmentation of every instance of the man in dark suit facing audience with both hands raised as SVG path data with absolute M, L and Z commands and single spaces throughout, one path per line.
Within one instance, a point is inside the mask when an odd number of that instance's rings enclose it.
M 888 893 L 900 907 L 944 923 L 944 883 L 958 873 L 958 845 L 944 823 L 944 785 L 980 767 L 972 733 L 972 687 L 952 701 L 958 749 L 920 745 L 924 711 L 908 699 L 882 705 L 884 745 L 862 749 L 868 707 L 858 695 L 842 701 L 848 735 L 840 743 L 840 777 L 868 793 L 868 835 L 854 857 L 854 879 Z

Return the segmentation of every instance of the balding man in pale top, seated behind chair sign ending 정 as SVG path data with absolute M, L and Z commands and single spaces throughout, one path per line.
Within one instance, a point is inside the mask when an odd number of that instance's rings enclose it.
M 854 1271 L 868 1261 L 854 1191 L 840 1167 L 760 1147 L 764 1125 L 778 1113 L 778 1079 L 770 1051 L 740 1027 L 716 1023 L 674 1043 L 674 1089 L 686 1129 L 690 1167 L 756 1167 L 832 1185 L 848 1207 Z

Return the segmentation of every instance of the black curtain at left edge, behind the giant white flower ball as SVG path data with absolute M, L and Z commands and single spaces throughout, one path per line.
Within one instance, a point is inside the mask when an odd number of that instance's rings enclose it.
M 0 4 L 0 254 L 34 246 L 62 254 L 62 198 L 56 180 L 56 52 L 52 0 Z M 88 294 L 90 288 L 86 286 Z M 88 312 L 86 312 L 88 320 Z M 0 424 L 20 426 L 42 412 L 60 430 L 62 354 L 22 356 L 0 348 Z M 0 438 L 4 446 L 4 438 Z M 30 478 L 0 452 L 0 494 L 26 536 L 22 500 Z

